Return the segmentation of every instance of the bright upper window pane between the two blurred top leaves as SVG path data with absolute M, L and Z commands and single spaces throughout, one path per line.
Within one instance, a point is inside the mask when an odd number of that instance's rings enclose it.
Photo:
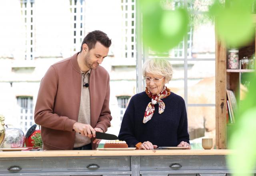
M 215 58 L 214 23 L 205 15 L 192 16 L 188 46 L 188 58 Z

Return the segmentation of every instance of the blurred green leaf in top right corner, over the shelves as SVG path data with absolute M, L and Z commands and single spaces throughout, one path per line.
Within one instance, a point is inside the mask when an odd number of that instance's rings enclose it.
M 254 37 L 252 2 L 252 0 L 229 0 L 224 6 L 216 1 L 209 8 L 209 15 L 216 17 L 218 36 L 229 46 L 243 46 Z

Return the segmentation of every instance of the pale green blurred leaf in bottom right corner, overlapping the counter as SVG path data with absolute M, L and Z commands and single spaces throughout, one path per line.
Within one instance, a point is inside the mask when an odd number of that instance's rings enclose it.
M 236 131 L 230 140 L 234 154 L 228 156 L 230 169 L 235 172 L 233 176 L 254 176 L 252 172 L 256 163 L 256 107 L 247 110 L 236 126 Z

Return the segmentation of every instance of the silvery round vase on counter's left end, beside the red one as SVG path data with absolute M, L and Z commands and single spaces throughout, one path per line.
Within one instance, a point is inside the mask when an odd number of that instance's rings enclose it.
M 19 128 L 6 128 L 5 138 L 0 148 L 24 147 L 25 136 Z

